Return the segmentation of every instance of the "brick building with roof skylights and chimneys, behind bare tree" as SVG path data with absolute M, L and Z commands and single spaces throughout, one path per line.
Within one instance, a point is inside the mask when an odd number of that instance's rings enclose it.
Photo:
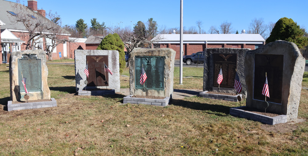
M 47 25 L 51 26 L 58 26 L 54 22 L 50 21 L 45 17 L 45 10 L 38 10 L 37 9 L 37 1 L 35 0 L 28 0 L 28 6 L 23 6 L 22 4 L 15 3 L 15 2 L 9 2 L 5 0 L 0 0 L 0 29 L 2 34 L 0 35 L 0 55 L 1 60 L 0 63 L 6 63 L 9 61 L 10 53 L 13 53 L 16 50 L 26 50 L 26 45 L 22 44 L 28 41 L 29 39 L 29 31 L 26 29 L 24 24 L 22 22 L 16 21 L 16 18 L 14 16 L 25 16 L 27 18 L 32 19 L 34 22 L 37 20 L 38 22 L 42 22 Z M 28 17 L 29 16 L 29 17 Z M 32 22 L 32 21 L 30 21 Z M 59 26 L 58 26 L 59 27 Z M 68 40 L 70 34 L 66 30 L 59 28 L 61 33 L 59 33 L 59 37 L 66 38 Z M 12 38 L 7 38 L 7 35 L 3 35 L 3 32 L 6 32 L 6 34 L 9 34 L 8 32 L 12 33 L 17 39 L 19 40 L 10 40 Z M 43 33 L 50 33 L 50 32 L 43 32 Z M 58 37 L 58 36 L 57 36 Z M 50 39 L 44 39 L 40 38 L 37 41 L 36 47 L 43 48 L 43 45 L 46 44 L 51 45 Z M 59 58 L 59 52 L 61 52 L 63 57 L 67 57 L 67 52 L 70 52 L 69 49 L 70 46 L 68 46 L 67 43 L 59 44 L 54 49 L 52 53 L 53 59 L 60 59 Z M 39 49 L 32 47 L 32 49 Z

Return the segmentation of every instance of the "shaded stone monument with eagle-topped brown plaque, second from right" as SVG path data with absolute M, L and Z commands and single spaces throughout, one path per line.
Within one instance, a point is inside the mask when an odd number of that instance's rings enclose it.
M 234 89 L 235 72 L 241 81 L 240 96 L 246 97 L 246 84 L 244 81 L 244 58 L 245 52 L 250 49 L 244 48 L 206 48 L 204 59 L 203 91 L 201 97 L 238 101 L 237 96 L 219 95 L 219 92 L 237 94 Z M 217 76 L 222 69 L 223 81 L 217 83 Z M 207 91 L 214 91 L 217 94 L 207 94 Z

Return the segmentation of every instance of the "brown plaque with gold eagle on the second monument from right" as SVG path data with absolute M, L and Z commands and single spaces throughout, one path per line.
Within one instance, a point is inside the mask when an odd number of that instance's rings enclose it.
M 220 87 L 233 88 L 235 79 L 235 69 L 237 68 L 237 54 L 236 53 L 214 53 L 214 76 L 213 86 L 218 87 L 217 77 L 222 70 L 223 80 Z

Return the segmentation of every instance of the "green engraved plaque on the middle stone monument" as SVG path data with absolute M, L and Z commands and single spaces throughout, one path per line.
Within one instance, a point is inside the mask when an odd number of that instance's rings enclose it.
M 148 89 L 164 89 L 164 60 L 165 57 L 135 57 L 135 88 L 142 89 L 145 86 Z M 144 85 L 140 84 L 140 75 L 142 65 L 147 80 Z

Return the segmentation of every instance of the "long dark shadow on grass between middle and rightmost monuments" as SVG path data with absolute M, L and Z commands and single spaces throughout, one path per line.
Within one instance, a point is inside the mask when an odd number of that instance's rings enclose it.
M 186 107 L 190 109 L 200 110 L 200 111 L 213 111 L 229 114 L 230 108 L 229 106 L 217 105 L 217 104 L 209 104 L 209 103 L 199 103 L 199 102 L 190 102 L 182 99 L 172 99 L 169 103 L 175 106 Z

